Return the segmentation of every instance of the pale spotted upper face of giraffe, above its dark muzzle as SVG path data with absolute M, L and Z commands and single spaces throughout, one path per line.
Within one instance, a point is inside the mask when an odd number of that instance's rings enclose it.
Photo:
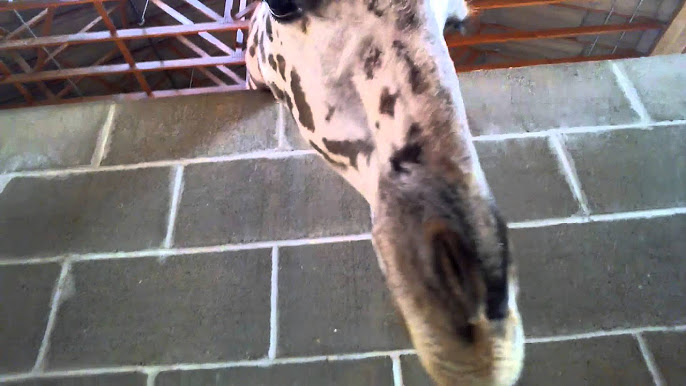
M 453 175 L 474 169 L 439 27 L 451 10 L 421 2 L 407 16 L 400 3 L 372 19 L 366 3 L 332 3 L 316 23 L 277 23 L 262 4 L 249 36 L 251 81 L 287 104 L 304 139 L 372 206 L 382 175 L 405 163 Z M 432 15 L 425 28 L 398 28 L 422 14 Z

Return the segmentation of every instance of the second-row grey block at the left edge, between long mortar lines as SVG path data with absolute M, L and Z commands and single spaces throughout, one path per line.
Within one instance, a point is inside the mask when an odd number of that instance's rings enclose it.
M 160 247 L 172 171 L 22 177 L 0 191 L 0 259 Z

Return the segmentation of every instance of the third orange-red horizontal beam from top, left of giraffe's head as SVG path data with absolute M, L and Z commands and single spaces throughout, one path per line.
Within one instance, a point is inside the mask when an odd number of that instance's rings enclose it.
M 64 70 L 42 71 L 31 74 L 12 74 L 0 79 L 0 84 L 29 83 L 52 79 L 65 79 L 79 76 L 102 76 L 110 74 L 128 74 L 136 71 L 163 71 L 190 67 L 211 67 L 218 65 L 242 65 L 245 59 L 237 56 L 212 56 L 209 58 L 173 59 L 164 61 L 139 62 L 135 68 L 128 63 L 108 64 L 102 66 L 68 68 Z

